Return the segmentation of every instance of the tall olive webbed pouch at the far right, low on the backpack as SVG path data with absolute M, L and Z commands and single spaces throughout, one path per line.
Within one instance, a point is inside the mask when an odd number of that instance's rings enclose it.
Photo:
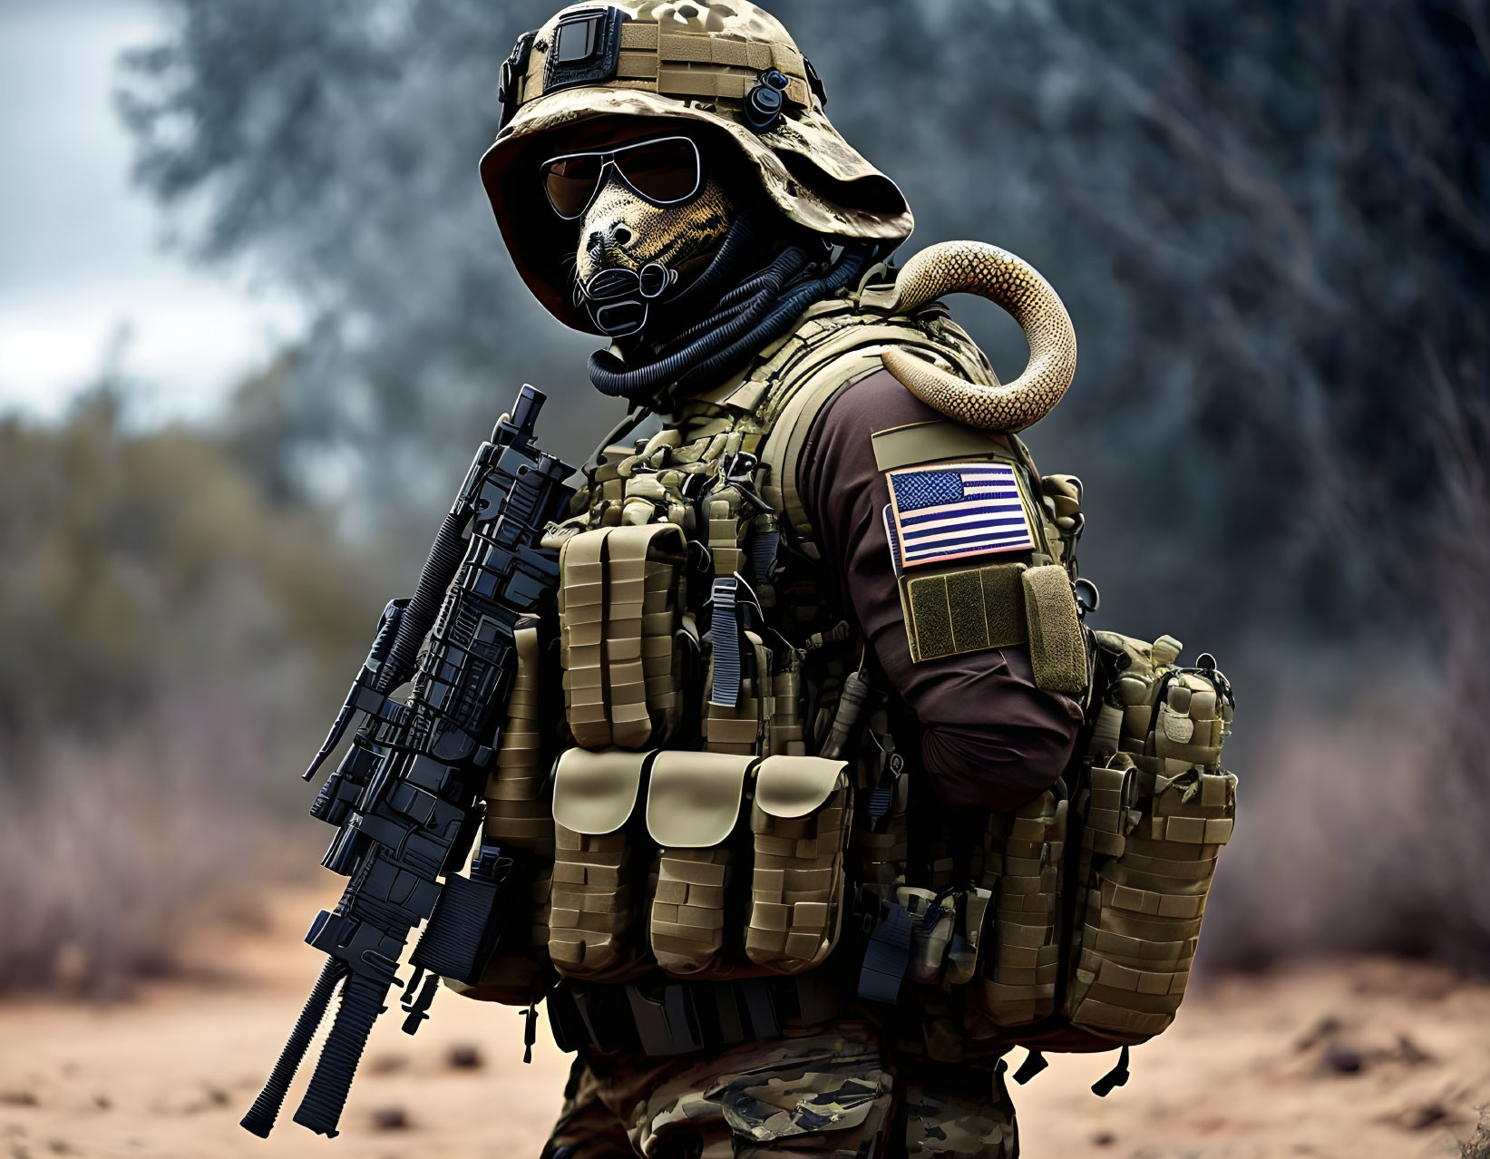
M 1220 846 L 1237 813 L 1223 769 L 1155 772 L 1156 758 L 1118 754 L 1092 769 L 1080 860 L 1067 1016 L 1071 1025 L 1137 1044 L 1174 1020 L 1201 931 Z

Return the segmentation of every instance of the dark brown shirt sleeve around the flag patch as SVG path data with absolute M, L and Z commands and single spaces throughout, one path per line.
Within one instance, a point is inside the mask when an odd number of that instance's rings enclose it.
M 1061 775 L 1082 712 L 1070 697 L 1036 687 L 1022 645 L 910 660 L 881 518 L 890 490 L 872 435 L 940 417 L 890 371 L 870 374 L 818 417 L 799 490 L 879 666 L 925 730 L 921 763 L 942 803 L 1012 809 Z

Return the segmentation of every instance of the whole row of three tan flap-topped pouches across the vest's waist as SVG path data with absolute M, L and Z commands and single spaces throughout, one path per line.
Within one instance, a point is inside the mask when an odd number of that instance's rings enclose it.
M 851 807 L 843 761 L 568 749 L 554 773 L 554 967 L 596 982 L 653 964 L 699 977 L 811 970 L 842 922 Z

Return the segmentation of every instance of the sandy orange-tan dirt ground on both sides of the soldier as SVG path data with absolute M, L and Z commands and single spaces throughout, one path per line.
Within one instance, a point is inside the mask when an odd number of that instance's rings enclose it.
M 541 1035 L 524 1067 L 516 1012 L 448 992 L 414 1038 L 383 1019 L 335 1141 L 288 1111 L 267 1143 L 238 1128 L 319 965 L 299 936 L 334 897 L 328 880 L 258 928 L 203 930 L 183 977 L 128 1003 L 0 1004 L 0 1158 L 536 1155 L 568 1058 Z M 1490 1102 L 1490 986 L 1380 959 L 1222 979 L 1098 1099 L 1112 1059 L 1053 1058 L 1015 1087 L 1028 1159 L 1448 1159 Z

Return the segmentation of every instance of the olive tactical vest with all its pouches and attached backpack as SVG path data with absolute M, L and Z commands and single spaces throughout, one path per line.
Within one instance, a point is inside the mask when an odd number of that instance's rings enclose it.
M 1088 703 L 1055 788 L 971 834 L 940 819 L 913 721 L 824 582 L 797 462 L 887 347 L 997 380 L 940 304 L 893 316 L 878 289 L 812 307 L 587 466 L 545 539 L 557 623 L 519 632 L 487 790 L 487 839 L 527 858 L 532 909 L 457 989 L 529 1006 L 554 973 L 621 991 L 830 968 L 863 1009 L 913 991 L 924 1050 L 948 1061 L 1104 1050 L 1173 1019 L 1235 810 L 1229 687 L 1177 667 L 1170 638 L 1082 624 L 1077 480 L 1040 477 L 1015 435 L 879 432 L 882 471 L 1006 463 L 1034 541 L 1028 562 L 903 577 L 912 657 L 1028 645 L 1040 687 Z

